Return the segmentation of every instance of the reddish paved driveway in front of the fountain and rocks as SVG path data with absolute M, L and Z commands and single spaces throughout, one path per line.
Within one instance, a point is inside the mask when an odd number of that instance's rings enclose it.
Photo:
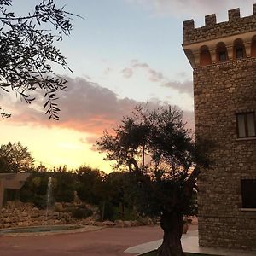
M 115 256 L 128 247 L 159 240 L 163 232 L 158 226 L 105 228 L 76 234 L 54 236 L 0 236 L 1 256 Z

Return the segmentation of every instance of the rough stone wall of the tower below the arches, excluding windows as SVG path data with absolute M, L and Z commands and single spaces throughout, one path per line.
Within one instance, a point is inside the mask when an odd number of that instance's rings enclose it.
M 256 250 L 256 209 L 241 209 L 241 179 L 256 179 L 256 140 L 237 139 L 236 113 L 256 111 L 256 58 L 194 70 L 195 133 L 216 143 L 199 187 L 201 246 Z

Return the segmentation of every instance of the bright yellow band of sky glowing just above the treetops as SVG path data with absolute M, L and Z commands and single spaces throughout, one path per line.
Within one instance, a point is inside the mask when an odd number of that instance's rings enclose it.
M 20 141 L 31 152 L 35 166 L 40 163 L 48 169 L 67 166 L 67 170 L 90 166 L 107 173 L 112 172 L 110 163 L 103 160 L 104 154 L 91 150 L 92 144 L 85 143 L 87 137 L 93 136 L 56 127 L 10 125 L 8 119 L 4 119 L 0 126 L 1 144 Z

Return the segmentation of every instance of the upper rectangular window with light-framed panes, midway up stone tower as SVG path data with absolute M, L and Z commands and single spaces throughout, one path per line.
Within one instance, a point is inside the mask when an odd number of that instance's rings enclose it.
M 237 137 L 256 137 L 255 113 L 236 114 Z

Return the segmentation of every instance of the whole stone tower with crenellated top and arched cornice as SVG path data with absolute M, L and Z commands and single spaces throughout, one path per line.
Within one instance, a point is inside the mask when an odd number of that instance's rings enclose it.
M 183 22 L 194 70 L 195 134 L 216 147 L 199 177 L 199 243 L 256 250 L 256 4 L 253 15 Z

